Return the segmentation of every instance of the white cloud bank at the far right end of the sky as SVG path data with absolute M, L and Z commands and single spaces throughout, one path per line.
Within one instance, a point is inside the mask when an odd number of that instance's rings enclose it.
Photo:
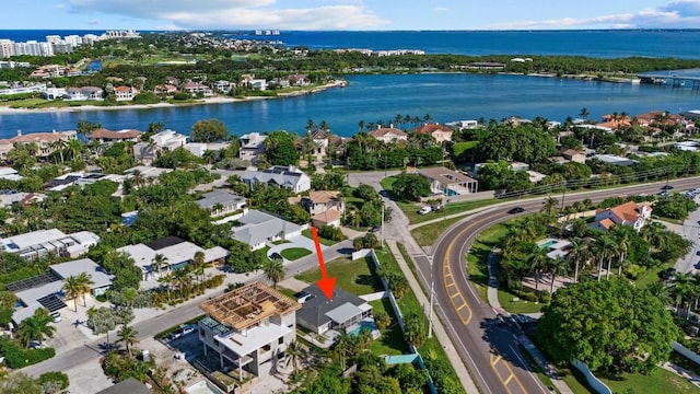
M 497 23 L 493 30 L 547 30 L 547 28 L 697 28 L 700 24 L 700 0 L 678 0 L 663 7 L 632 13 L 594 18 L 564 18 L 542 21 Z

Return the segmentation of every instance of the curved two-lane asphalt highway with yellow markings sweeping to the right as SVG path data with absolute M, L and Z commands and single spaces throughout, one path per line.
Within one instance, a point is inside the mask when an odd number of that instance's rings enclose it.
M 700 186 L 700 179 L 675 179 L 669 184 L 674 190 L 684 190 Z M 586 198 L 597 202 L 621 195 L 655 194 L 663 185 L 665 182 L 578 193 L 567 195 L 565 202 Z M 561 196 L 552 197 L 561 202 Z M 419 277 L 427 289 L 434 279 L 435 312 L 482 393 L 550 393 L 518 350 L 516 335 L 521 334 L 520 327 L 501 322 L 498 313 L 476 293 L 466 268 L 466 254 L 481 231 L 513 217 L 538 211 L 546 198 L 548 196 L 514 201 L 471 215 L 441 235 L 433 256 L 416 258 Z M 509 215 L 508 210 L 516 206 L 525 208 L 525 212 Z

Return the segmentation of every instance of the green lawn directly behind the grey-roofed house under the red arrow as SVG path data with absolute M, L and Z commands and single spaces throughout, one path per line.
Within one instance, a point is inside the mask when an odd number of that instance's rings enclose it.
M 374 263 L 370 257 L 358 260 L 348 258 L 335 259 L 326 264 L 328 277 L 336 278 L 336 286 L 355 296 L 383 291 L 382 281 L 374 275 Z M 294 278 L 307 283 L 320 279 L 320 270 L 313 269 L 296 275 Z

